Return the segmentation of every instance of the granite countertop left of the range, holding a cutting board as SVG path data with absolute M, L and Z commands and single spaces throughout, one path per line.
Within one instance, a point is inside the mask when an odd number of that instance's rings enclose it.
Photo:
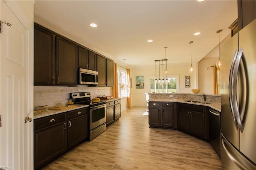
M 89 105 L 76 105 L 76 108 L 70 108 L 70 109 L 65 109 L 65 110 L 51 110 L 51 109 L 48 109 L 47 111 L 34 113 L 34 119 L 38 119 L 38 118 L 46 117 L 46 116 L 50 116 L 50 115 L 56 115 L 56 114 L 64 113 L 64 112 L 68 112 L 68 111 L 73 111 L 73 110 L 81 109 L 81 108 L 84 108 L 84 107 L 89 107 Z

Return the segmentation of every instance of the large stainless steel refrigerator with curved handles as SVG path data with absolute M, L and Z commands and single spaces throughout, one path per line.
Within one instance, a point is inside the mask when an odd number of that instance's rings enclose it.
M 220 51 L 222 169 L 256 170 L 256 20 Z

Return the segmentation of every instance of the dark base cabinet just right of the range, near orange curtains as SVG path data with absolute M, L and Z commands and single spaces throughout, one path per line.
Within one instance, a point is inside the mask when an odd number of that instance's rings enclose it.
M 117 121 L 121 117 L 121 100 L 117 99 L 114 101 L 107 101 L 106 107 L 106 126 L 108 126 Z

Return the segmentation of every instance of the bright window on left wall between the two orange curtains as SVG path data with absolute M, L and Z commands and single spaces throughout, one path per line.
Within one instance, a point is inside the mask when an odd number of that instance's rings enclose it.
M 117 70 L 118 77 L 118 96 L 119 97 L 127 97 L 127 72 L 126 70 L 118 69 Z

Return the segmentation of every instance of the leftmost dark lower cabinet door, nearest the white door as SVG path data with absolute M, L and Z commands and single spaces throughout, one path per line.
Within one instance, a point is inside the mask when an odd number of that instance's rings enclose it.
M 34 168 L 38 169 L 67 150 L 66 123 L 34 131 Z

